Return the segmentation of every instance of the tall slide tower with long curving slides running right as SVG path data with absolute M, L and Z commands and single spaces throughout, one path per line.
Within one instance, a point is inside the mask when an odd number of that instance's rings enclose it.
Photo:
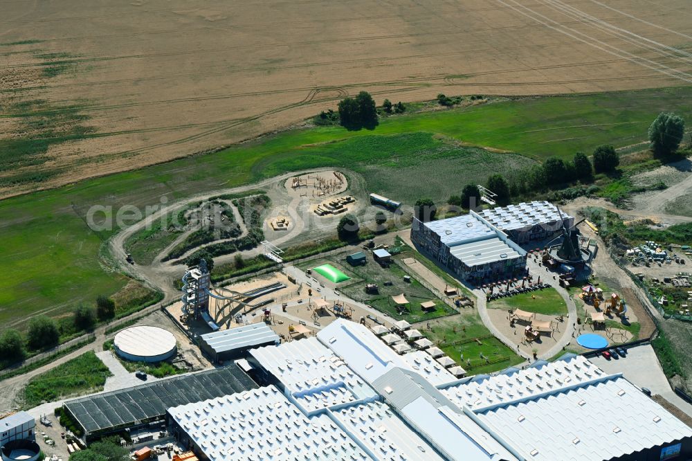
M 183 296 L 181 297 L 181 301 L 183 302 L 183 306 L 181 308 L 181 322 L 188 323 L 190 320 L 201 319 L 205 321 L 214 332 L 218 331 L 220 327 L 210 314 L 210 302 L 212 302 L 213 311 L 218 318 L 219 314 L 230 315 L 241 308 L 246 310 L 255 309 L 271 304 L 274 302 L 273 299 L 262 300 L 254 304 L 250 304 L 250 302 L 261 296 L 286 288 L 286 285 L 282 282 L 275 282 L 243 293 L 223 287 L 212 291 L 209 271 L 205 260 L 202 260 L 199 266 L 192 267 L 185 271 L 182 280 Z

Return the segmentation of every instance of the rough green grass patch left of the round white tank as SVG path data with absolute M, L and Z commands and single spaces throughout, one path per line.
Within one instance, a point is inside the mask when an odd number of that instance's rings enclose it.
M 30 379 L 24 388 L 24 407 L 33 408 L 44 401 L 99 392 L 110 376 L 113 375 L 96 354 L 85 352 Z

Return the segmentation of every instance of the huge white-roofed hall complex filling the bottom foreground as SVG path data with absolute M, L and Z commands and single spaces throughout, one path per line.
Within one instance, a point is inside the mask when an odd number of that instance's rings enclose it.
M 692 429 L 583 356 L 455 379 L 363 325 L 251 352 L 270 383 L 170 408 L 204 460 L 688 459 Z M 408 354 L 412 355 L 412 354 Z M 447 373 L 448 374 L 448 373 Z

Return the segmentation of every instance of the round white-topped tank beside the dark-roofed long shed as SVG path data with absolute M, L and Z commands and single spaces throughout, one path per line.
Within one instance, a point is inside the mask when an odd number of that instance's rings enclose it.
M 113 339 L 116 354 L 135 362 L 160 362 L 178 350 L 175 336 L 159 327 L 130 327 Z

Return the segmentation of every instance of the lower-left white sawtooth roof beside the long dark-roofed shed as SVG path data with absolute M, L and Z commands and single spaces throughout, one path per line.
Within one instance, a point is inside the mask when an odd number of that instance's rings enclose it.
M 168 413 L 213 461 L 370 459 L 327 415 L 306 417 L 274 386 Z

